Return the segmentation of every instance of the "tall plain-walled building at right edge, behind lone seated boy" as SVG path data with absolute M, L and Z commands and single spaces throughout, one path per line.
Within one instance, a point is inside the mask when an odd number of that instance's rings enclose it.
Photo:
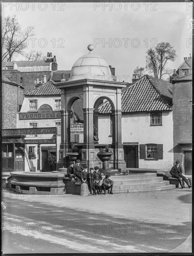
M 173 141 L 174 162 L 179 160 L 185 175 L 192 175 L 192 57 L 174 70 Z

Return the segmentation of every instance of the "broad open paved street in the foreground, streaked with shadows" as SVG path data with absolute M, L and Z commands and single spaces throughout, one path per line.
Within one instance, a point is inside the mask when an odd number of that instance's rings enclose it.
M 87 197 L 3 191 L 3 253 L 191 252 L 191 191 Z

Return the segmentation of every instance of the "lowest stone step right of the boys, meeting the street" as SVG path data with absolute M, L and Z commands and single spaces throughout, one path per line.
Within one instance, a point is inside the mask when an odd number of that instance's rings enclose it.
M 132 195 L 134 196 L 138 196 L 138 194 L 140 192 L 150 192 L 153 194 L 153 196 L 155 196 L 155 192 L 157 191 L 163 191 L 163 190 L 169 190 L 169 189 L 175 189 L 175 185 L 165 185 L 165 186 L 161 186 L 161 187 L 145 187 L 145 188 L 132 188 L 132 189 L 114 189 L 113 187 L 113 193 L 116 194 L 117 196 L 121 193 L 132 193 Z M 149 195 L 151 196 L 151 195 Z

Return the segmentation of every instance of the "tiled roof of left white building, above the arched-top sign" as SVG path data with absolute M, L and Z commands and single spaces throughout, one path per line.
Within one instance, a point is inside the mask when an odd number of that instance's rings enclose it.
M 26 94 L 26 96 L 46 96 L 46 95 L 60 95 L 61 90 L 56 88 L 52 80 L 34 89 L 32 92 Z

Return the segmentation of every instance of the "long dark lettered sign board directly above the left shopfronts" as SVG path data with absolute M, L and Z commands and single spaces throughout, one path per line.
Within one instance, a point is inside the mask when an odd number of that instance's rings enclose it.
M 34 135 L 34 134 L 56 134 L 56 127 L 51 128 L 26 128 L 26 129 L 4 129 L 1 130 L 2 136 L 13 135 Z

